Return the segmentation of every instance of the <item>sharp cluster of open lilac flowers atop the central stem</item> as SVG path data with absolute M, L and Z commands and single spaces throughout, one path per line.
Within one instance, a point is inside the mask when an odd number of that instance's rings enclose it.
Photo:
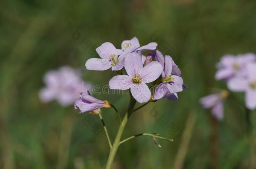
M 157 50 L 157 43 L 141 46 L 136 37 L 124 40 L 121 49 L 106 42 L 96 49 L 100 58 L 90 58 L 85 66 L 88 70 L 103 71 L 109 68 L 120 75 L 110 79 L 110 89 L 131 90 L 133 98 L 139 103 L 156 101 L 167 97 L 177 100 L 177 93 L 183 91 L 183 79 L 180 69 L 169 55 Z M 149 51 L 143 55 L 143 51 Z M 127 75 L 123 74 L 123 70 Z M 147 83 L 157 86 L 154 94 Z

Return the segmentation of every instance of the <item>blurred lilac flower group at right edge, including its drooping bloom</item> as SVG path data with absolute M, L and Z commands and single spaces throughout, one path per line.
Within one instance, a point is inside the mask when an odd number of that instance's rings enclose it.
M 245 102 L 248 109 L 256 108 L 256 55 L 224 55 L 217 64 L 216 80 L 227 82 L 227 88 L 233 92 L 245 92 Z M 223 117 L 223 101 L 227 98 L 227 91 L 211 94 L 201 98 L 204 108 L 212 108 L 213 116 Z

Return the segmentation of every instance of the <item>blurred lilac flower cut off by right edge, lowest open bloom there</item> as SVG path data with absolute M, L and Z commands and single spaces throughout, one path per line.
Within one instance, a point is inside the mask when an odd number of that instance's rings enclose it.
M 227 82 L 230 91 L 246 93 L 246 107 L 254 110 L 256 108 L 256 63 L 249 63 L 246 67 L 246 77 L 234 77 Z

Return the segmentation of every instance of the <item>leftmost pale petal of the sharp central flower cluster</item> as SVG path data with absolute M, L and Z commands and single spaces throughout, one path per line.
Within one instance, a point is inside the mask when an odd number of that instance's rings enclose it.
M 87 70 L 104 71 L 111 68 L 111 63 L 108 59 L 90 58 L 85 63 Z

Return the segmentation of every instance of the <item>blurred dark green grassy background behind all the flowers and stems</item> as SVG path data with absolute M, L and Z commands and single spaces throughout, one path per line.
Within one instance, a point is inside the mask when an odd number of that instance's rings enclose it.
M 120 48 L 134 36 L 171 55 L 189 89 L 178 101 L 162 99 L 133 114 L 122 137 L 155 132 L 174 142 L 158 140 L 159 148 L 150 137 L 137 137 L 119 147 L 113 169 L 248 168 L 243 105 L 227 101 L 225 119 L 217 122 L 198 100 L 226 88 L 214 81 L 223 54 L 256 53 L 255 9 L 253 0 L 1 1 L 0 168 L 104 168 L 109 147 L 95 129 L 99 118 L 56 101 L 41 103 L 38 92 L 44 73 L 63 65 L 81 68 L 84 81 L 107 85 L 115 72 L 87 71 L 84 63 L 98 57 L 102 43 Z M 124 115 L 129 96 L 97 97 Z M 102 111 L 113 140 L 118 117 Z

